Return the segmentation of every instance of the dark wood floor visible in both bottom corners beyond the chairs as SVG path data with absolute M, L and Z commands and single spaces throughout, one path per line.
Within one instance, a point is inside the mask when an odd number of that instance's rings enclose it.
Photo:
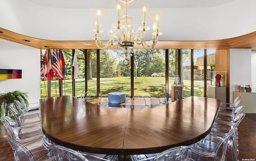
M 239 156 L 244 159 L 256 160 L 256 114 L 246 114 L 238 126 Z M 5 127 L 0 129 L 0 161 L 13 161 L 13 152 L 10 144 L 2 137 L 8 135 Z M 254 160 L 253 160 L 254 159 Z

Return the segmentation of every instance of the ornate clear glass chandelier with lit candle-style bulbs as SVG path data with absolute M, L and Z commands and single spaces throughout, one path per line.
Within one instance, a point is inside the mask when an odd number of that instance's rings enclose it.
M 124 53 L 121 55 L 125 56 L 132 56 L 133 47 L 135 44 L 142 45 L 142 47 L 146 50 L 151 50 L 154 48 L 158 41 L 158 36 L 162 35 L 159 32 L 158 27 L 158 16 L 156 16 L 156 22 L 153 25 L 153 33 L 152 33 L 152 40 L 150 41 L 150 45 L 148 45 L 145 41 L 146 31 L 150 29 L 150 27 L 146 26 L 146 8 L 143 8 L 143 21 L 142 26 L 138 24 L 134 25 L 132 31 L 129 31 L 129 27 L 132 25 L 132 17 L 128 15 L 129 6 L 134 4 L 136 0 L 116 0 L 118 2 L 117 11 L 118 16 L 116 20 L 116 24 L 112 24 L 111 29 L 108 31 L 108 35 L 110 39 L 107 43 L 103 43 L 100 39 L 100 33 L 103 32 L 100 29 L 100 10 L 98 10 L 98 20 L 95 23 L 95 43 L 99 49 L 106 49 L 109 45 L 111 45 L 112 50 L 117 52 L 119 49 L 124 49 Z M 124 6 L 125 14 L 120 18 L 120 5 Z M 117 41 L 116 46 L 115 42 Z M 130 50 L 130 51 L 129 51 Z M 127 64 L 127 63 L 126 63 Z

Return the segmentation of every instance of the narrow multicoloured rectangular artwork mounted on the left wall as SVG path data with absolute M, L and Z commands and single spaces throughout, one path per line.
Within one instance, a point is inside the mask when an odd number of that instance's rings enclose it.
M 0 69 L 0 80 L 2 79 L 21 79 L 21 69 Z

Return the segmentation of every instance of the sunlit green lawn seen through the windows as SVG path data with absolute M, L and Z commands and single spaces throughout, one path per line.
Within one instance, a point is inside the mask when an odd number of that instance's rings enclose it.
M 88 81 L 88 91 L 91 95 L 96 94 L 96 78 Z M 169 83 L 173 84 L 174 79 L 170 78 Z M 190 81 L 183 81 L 184 96 L 190 96 Z M 45 82 L 47 87 L 47 82 Z M 76 93 L 84 89 L 84 79 L 75 80 Z M 51 81 L 51 96 L 58 96 L 58 81 Z M 129 77 L 115 77 L 115 78 L 100 78 L 100 92 L 103 96 L 108 96 L 109 92 L 125 92 L 126 96 L 130 96 L 130 78 Z M 170 88 L 170 87 L 169 87 Z M 72 96 L 72 80 L 63 81 L 63 95 Z M 138 77 L 134 79 L 134 95 L 150 96 L 151 93 L 163 95 L 165 91 L 164 77 Z M 46 97 L 46 90 L 44 88 L 44 81 L 41 82 L 41 98 Z M 203 82 L 194 82 L 194 96 L 203 96 L 202 93 Z

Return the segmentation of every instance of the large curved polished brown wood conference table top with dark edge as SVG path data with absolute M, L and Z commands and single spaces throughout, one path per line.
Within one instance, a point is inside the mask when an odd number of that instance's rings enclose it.
M 219 102 L 191 96 L 154 108 L 114 108 L 71 96 L 43 98 L 42 130 L 56 144 L 89 153 L 159 153 L 204 138 Z

